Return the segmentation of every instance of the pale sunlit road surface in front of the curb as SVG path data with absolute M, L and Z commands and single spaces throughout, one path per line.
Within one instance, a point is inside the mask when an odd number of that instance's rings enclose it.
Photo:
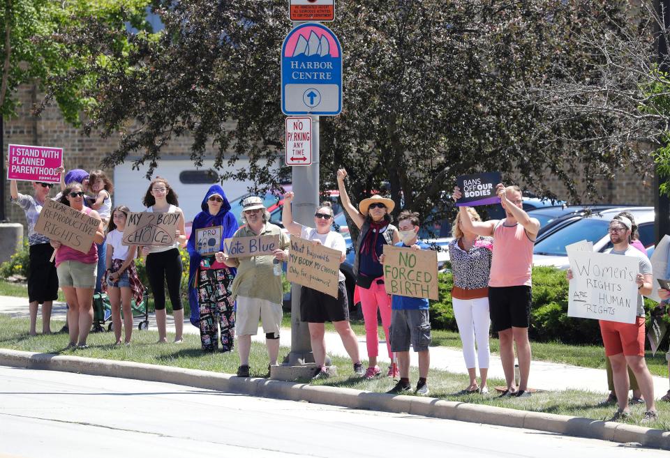
M 0 367 L 4 457 L 656 457 L 528 429 Z

